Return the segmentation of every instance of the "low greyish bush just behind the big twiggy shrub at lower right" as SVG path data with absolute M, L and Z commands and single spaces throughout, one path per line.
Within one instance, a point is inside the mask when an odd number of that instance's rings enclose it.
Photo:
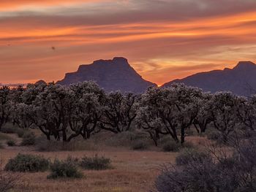
M 184 149 L 176 157 L 176 165 L 183 166 L 189 164 L 192 161 L 202 162 L 206 158 L 210 158 L 207 153 L 203 153 L 199 150 Z

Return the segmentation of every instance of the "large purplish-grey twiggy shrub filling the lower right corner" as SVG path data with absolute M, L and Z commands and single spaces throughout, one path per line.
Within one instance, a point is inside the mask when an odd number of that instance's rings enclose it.
M 159 192 L 233 192 L 256 190 L 256 141 L 238 139 L 233 154 L 213 146 L 207 153 L 185 151 L 178 166 L 162 169 L 156 181 Z

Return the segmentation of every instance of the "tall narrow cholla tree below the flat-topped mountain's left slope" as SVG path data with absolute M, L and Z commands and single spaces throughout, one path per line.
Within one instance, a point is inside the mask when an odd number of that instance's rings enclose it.
M 95 82 L 79 82 L 71 85 L 70 90 L 75 93 L 74 106 L 69 117 L 69 127 L 74 133 L 67 140 L 70 141 L 78 135 L 89 139 L 101 118 L 105 92 Z

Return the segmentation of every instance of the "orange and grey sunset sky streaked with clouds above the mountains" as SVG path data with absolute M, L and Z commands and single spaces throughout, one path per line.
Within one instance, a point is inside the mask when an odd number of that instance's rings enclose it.
M 255 31 L 256 0 L 0 0 L 0 82 L 123 56 L 162 85 L 256 62 Z

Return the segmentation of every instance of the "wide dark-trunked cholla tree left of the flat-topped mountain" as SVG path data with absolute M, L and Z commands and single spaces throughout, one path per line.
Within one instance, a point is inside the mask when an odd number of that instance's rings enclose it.
M 28 97 L 29 93 L 34 93 L 34 96 Z M 75 94 L 64 86 L 49 83 L 30 85 L 24 96 L 28 104 L 23 107 L 27 108 L 26 115 L 33 125 L 39 128 L 48 140 L 53 135 L 55 139 L 67 141 L 67 127 Z

